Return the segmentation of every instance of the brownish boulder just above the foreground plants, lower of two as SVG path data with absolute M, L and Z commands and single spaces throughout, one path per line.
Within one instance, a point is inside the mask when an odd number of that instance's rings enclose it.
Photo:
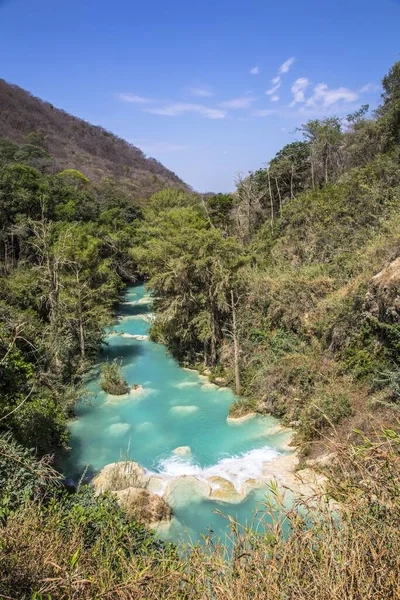
M 149 490 L 128 487 L 115 492 L 115 495 L 118 503 L 126 509 L 128 517 L 136 519 L 139 523 L 156 525 L 171 520 L 171 507 Z

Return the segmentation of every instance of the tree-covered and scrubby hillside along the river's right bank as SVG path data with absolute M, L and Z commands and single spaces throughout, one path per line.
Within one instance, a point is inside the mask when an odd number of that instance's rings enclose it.
M 137 231 L 153 336 L 231 382 L 233 415 L 295 426 L 305 452 L 400 397 L 400 63 L 383 86 L 374 114 L 307 122 L 232 196 L 156 195 Z

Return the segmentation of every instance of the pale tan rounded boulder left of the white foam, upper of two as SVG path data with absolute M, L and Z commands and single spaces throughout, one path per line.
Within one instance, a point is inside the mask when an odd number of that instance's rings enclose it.
M 106 465 L 93 479 L 97 494 L 103 492 L 125 490 L 129 487 L 145 487 L 149 476 L 135 461 L 121 461 Z

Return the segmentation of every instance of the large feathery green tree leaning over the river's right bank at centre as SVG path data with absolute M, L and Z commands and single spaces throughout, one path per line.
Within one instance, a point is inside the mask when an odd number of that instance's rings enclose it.
M 234 238 L 210 226 L 201 205 L 188 203 L 169 209 L 163 203 L 160 210 L 156 198 L 144 211 L 134 255 L 150 276 L 159 337 L 181 360 L 215 366 L 223 330 L 232 321 L 231 292 L 246 259 Z

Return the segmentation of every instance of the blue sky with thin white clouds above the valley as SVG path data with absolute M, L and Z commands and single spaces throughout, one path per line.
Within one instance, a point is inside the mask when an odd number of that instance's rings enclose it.
M 0 0 L 0 77 L 229 191 L 309 118 L 376 106 L 399 0 Z

